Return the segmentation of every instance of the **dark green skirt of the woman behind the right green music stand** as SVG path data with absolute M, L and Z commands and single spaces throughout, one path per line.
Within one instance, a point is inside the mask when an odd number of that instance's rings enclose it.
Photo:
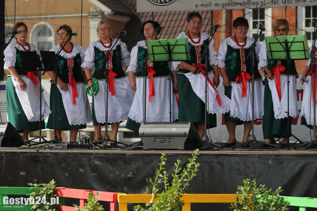
M 279 138 L 287 132 L 287 117 L 275 119 L 273 111 L 273 100 L 268 79 L 264 80 L 264 115 L 262 120 L 263 138 Z M 289 132 L 292 132 L 292 117 L 289 117 Z

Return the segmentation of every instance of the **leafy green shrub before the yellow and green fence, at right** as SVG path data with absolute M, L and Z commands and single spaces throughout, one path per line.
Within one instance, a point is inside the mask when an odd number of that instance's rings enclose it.
M 288 201 L 281 205 L 283 199 L 280 193 L 283 191 L 278 187 L 274 192 L 267 189 L 265 185 L 256 186 L 256 180 L 250 182 L 250 179 L 243 180 L 244 186 L 238 186 L 237 203 L 232 203 L 230 209 L 240 210 L 257 210 L 257 211 L 282 211 L 288 210 Z

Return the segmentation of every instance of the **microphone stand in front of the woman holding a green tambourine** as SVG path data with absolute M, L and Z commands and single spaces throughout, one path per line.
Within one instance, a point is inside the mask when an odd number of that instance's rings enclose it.
M 119 33 L 117 33 L 117 34 L 119 34 Z M 116 34 L 116 35 L 117 35 Z M 113 39 L 115 39 L 115 36 L 114 36 L 114 38 Z M 119 37 L 118 37 L 118 39 L 116 40 L 116 42 L 110 47 L 110 49 L 108 50 L 108 52 L 106 53 L 106 55 L 105 55 L 105 57 L 104 57 L 104 59 L 101 61 L 101 63 L 100 63 L 100 65 L 99 65 L 99 67 L 95 70 L 95 72 L 94 72 L 94 74 L 92 75 L 92 78 L 94 78 L 94 76 L 96 75 L 96 73 L 100 70 L 100 67 L 105 63 L 105 61 L 107 60 L 108 61 L 108 59 L 109 59 L 109 54 L 110 54 L 110 52 L 112 51 L 112 49 L 113 49 L 113 47 L 117 44 L 117 42 L 119 41 L 119 39 L 120 39 L 120 34 L 119 34 Z M 106 66 L 106 75 L 105 75 L 105 82 L 106 82 L 106 84 L 105 84 L 105 93 L 106 93 L 106 96 L 105 96 L 105 101 L 106 101 L 106 106 L 105 106 L 105 109 L 106 109 L 106 126 L 105 126 L 105 136 L 103 137 L 103 140 L 99 140 L 99 141 L 97 141 L 97 143 L 103 143 L 104 141 L 105 141 L 105 145 L 107 145 L 107 142 L 110 140 L 110 141 L 112 141 L 112 142 L 115 142 L 115 143 L 119 143 L 119 144 L 123 144 L 123 145 L 126 145 L 126 144 L 124 144 L 124 143 L 121 143 L 121 142 L 118 142 L 118 141 L 114 141 L 114 140 L 111 140 L 110 139 L 110 137 L 109 137 L 109 135 L 108 135 L 108 93 L 109 93 L 109 70 L 108 70 L 108 64 L 107 65 L 105 65 Z

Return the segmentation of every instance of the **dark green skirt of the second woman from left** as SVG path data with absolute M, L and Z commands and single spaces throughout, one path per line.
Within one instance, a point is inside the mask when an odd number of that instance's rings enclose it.
M 57 103 L 56 103 L 56 129 L 61 129 L 63 131 L 68 131 L 71 129 L 85 129 L 86 124 L 82 125 L 69 125 L 68 118 L 65 112 L 63 99 L 61 92 L 57 88 L 56 95 Z M 47 128 L 54 129 L 55 127 L 55 84 L 51 84 L 51 91 L 49 96 L 49 107 L 52 113 L 49 114 L 49 119 L 47 121 Z

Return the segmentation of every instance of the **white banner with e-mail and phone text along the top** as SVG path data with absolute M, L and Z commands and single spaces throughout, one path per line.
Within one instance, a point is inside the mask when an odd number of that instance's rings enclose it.
M 317 0 L 137 0 L 137 12 L 314 6 Z

